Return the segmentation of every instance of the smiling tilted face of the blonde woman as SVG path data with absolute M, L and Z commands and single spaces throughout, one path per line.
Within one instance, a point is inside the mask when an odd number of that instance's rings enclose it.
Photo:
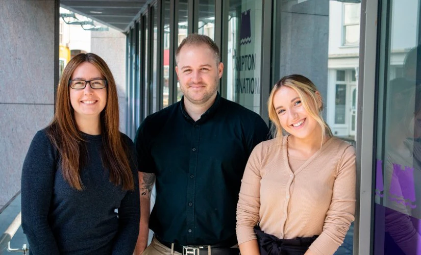
M 282 86 L 275 92 L 273 104 L 282 128 L 292 136 L 311 139 L 321 133 L 319 123 L 306 111 L 294 89 Z

